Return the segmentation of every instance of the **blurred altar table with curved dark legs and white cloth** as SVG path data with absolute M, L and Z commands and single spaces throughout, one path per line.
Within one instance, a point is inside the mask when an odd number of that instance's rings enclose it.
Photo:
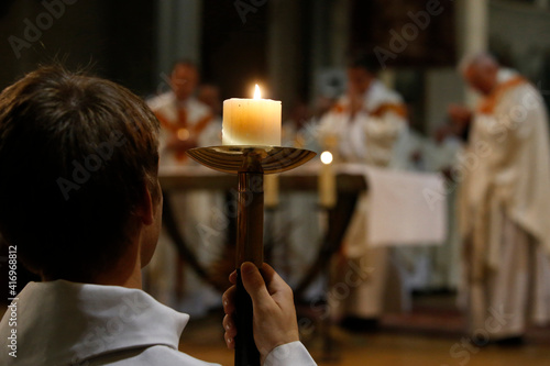
M 320 163 L 311 162 L 280 174 L 278 175 L 278 189 L 280 192 L 317 192 L 319 171 Z M 317 245 L 316 259 L 294 288 L 298 301 L 318 275 L 327 273 L 332 255 L 340 249 L 360 197 L 367 190 L 372 196 L 371 203 L 374 206 L 374 213 L 373 220 L 370 223 L 365 222 L 365 225 L 373 225 L 370 234 L 373 236 L 374 245 L 440 244 L 447 235 L 447 201 L 443 178 L 439 175 L 391 171 L 373 169 L 364 165 L 341 164 L 334 167 L 334 179 L 336 206 L 318 207 L 318 210 L 326 211 L 326 230 L 322 233 L 321 243 Z M 234 193 L 235 175 L 218 173 L 202 166 L 162 168 L 160 181 L 165 198 L 176 191 L 193 190 L 233 191 L 233 195 L 227 195 L 228 200 L 234 200 L 237 197 Z M 388 200 L 392 200 L 391 204 Z M 228 202 L 228 204 L 232 203 Z M 224 285 L 215 279 L 208 268 L 205 268 L 197 259 L 190 243 L 184 240 L 168 199 L 164 200 L 163 210 L 164 228 L 176 245 L 179 256 L 200 278 L 223 291 Z M 234 245 L 234 222 L 228 225 L 227 245 Z

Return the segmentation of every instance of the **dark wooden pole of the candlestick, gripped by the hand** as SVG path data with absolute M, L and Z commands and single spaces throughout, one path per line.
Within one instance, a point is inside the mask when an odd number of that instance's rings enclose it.
M 251 154 L 239 170 L 239 206 L 237 218 L 237 299 L 235 366 L 258 366 L 260 353 L 254 342 L 252 300 L 244 289 L 241 265 L 264 263 L 264 173 L 260 159 Z

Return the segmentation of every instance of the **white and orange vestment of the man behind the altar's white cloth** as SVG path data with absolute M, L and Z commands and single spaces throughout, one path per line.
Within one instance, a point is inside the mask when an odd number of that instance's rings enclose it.
M 396 146 L 407 134 L 406 111 L 395 91 L 375 80 L 364 95 L 363 109 L 353 118 L 346 97 L 320 122 L 319 140 L 324 146 L 333 144 L 337 159 L 363 163 L 378 167 L 400 166 L 403 156 Z M 338 162 L 337 160 L 337 162 Z M 388 248 L 371 248 L 367 243 L 365 222 L 369 212 L 369 195 L 362 195 L 348 228 L 343 249 L 354 266 L 369 266 L 371 276 L 361 285 L 350 287 L 350 295 L 339 299 L 331 309 L 348 315 L 377 318 L 383 311 Z

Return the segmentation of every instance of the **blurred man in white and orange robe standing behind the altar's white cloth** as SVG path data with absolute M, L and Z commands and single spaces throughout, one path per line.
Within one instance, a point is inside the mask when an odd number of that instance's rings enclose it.
M 323 115 L 319 142 L 344 163 L 377 167 L 399 166 L 399 142 L 407 135 L 407 110 L 402 97 L 375 77 L 377 60 L 367 55 L 353 59 L 348 67 L 348 95 Z M 388 248 L 372 247 L 367 242 L 365 220 L 369 196 L 363 195 L 344 239 L 349 260 L 374 270 L 350 297 L 340 303 L 343 324 L 351 330 L 377 328 L 384 309 Z

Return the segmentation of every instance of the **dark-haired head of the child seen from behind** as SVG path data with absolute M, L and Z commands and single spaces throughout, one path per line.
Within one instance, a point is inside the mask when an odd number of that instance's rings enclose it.
M 161 222 L 158 121 L 128 89 L 43 67 L 0 95 L 0 232 L 44 279 L 95 282 Z M 132 249 L 132 251 L 131 251 Z

